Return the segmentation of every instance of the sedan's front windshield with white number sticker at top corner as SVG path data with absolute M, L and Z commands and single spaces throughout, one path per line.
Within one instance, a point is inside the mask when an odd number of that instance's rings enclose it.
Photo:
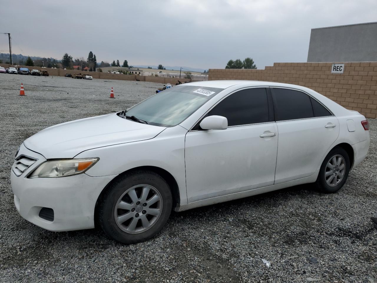
M 173 127 L 222 90 L 201 86 L 174 86 L 129 108 L 126 115 L 135 116 L 150 125 Z

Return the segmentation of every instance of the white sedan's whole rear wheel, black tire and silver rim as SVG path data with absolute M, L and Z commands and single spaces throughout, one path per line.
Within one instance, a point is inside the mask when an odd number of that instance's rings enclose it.
M 333 148 L 322 162 L 316 181 L 317 187 L 326 194 L 339 191 L 348 178 L 350 168 L 347 152 L 340 147 Z M 342 175 L 341 178 L 339 177 L 340 174 Z

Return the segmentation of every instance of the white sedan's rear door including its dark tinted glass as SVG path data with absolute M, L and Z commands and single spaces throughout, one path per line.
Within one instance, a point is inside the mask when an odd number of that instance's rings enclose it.
M 279 139 L 275 184 L 312 175 L 339 135 L 338 119 L 305 92 L 271 88 Z

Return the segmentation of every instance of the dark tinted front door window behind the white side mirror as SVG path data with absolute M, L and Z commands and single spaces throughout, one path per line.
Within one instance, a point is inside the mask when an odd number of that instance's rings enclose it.
M 251 88 L 231 94 L 206 116 L 220 115 L 228 119 L 228 126 L 268 122 L 268 103 L 265 88 Z

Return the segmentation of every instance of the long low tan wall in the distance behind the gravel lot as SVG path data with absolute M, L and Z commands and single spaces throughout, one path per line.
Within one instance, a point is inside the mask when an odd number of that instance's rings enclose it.
M 9 64 L 0 64 L 0 66 L 6 68 L 14 67 L 14 65 Z M 178 80 L 181 82 L 191 82 L 190 78 L 169 78 L 169 77 L 155 77 L 155 76 L 141 76 L 141 75 L 123 75 L 123 74 L 111 74 L 107 72 L 86 72 L 86 71 L 78 71 L 78 70 L 63 70 L 63 69 L 52 69 L 52 68 L 41 68 L 41 67 L 32 67 L 32 66 L 20 66 L 17 65 L 17 68 L 28 68 L 29 70 L 47 70 L 49 75 L 51 76 L 61 76 L 64 77 L 66 73 L 69 74 L 89 74 L 93 78 L 101 78 L 106 80 L 126 80 L 126 81 L 134 81 L 140 80 L 141 82 L 152 82 L 152 83 L 170 83 L 175 85 L 178 83 Z

